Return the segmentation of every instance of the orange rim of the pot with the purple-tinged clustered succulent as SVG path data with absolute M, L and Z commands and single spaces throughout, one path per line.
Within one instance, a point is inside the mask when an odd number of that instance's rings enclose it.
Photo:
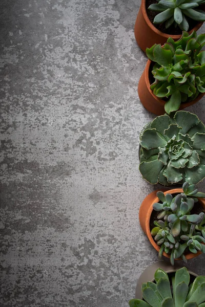
M 163 192 L 165 195 L 166 194 L 179 194 L 183 192 L 183 189 L 181 188 L 176 188 L 176 189 L 172 189 L 172 190 L 168 190 L 168 191 L 165 191 Z M 145 221 L 145 227 L 146 227 L 146 233 L 147 233 L 147 236 L 148 236 L 148 239 L 150 241 L 150 243 L 152 244 L 152 246 L 155 248 L 155 250 L 157 252 L 159 252 L 160 250 L 160 247 L 156 244 L 155 240 L 153 239 L 152 235 L 151 235 L 151 231 L 150 231 L 150 217 L 151 217 L 151 214 L 152 214 L 152 211 L 153 211 L 153 204 L 154 203 L 157 203 L 159 201 L 158 197 L 156 196 L 156 198 L 153 200 L 152 204 L 150 205 L 149 209 L 148 209 L 148 212 L 147 212 L 147 215 L 146 215 L 146 221 Z M 202 200 L 200 198 L 198 198 L 198 201 L 199 203 L 201 204 L 202 203 Z M 187 253 L 185 255 L 185 257 L 187 259 L 192 259 L 192 258 L 195 258 L 197 257 L 198 255 L 200 255 L 202 252 L 198 251 L 196 254 L 193 254 L 193 253 Z M 167 257 L 167 258 L 170 258 L 170 254 L 167 254 L 165 252 L 163 252 L 163 256 Z M 180 258 L 177 258 L 175 260 L 182 260 L 181 257 Z

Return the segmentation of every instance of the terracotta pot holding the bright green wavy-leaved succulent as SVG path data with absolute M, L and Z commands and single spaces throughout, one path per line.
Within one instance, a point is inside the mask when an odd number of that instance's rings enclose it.
M 143 72 L 143 74 L 141 75 L 140 79 L 139 79 L 139 84 L 138 84 L 138 95 L 139 95 L 139 99 L 141 101 L 141 103 L 144 105 L 144 107 L 156 114 L 156 115 L 163 115 L 165 114 L 165 101 L 158 98 L 157 96 L 155 96 L 152 92 L 152 90 L 150 89 L 150 80 L 149 80 L 149 70 L 150 70 L 150 65 L 151 65 L 152 61 L 148 60 L 145 70 Z M 205 93 L 200 93 L 198 95 L 198 97 L 190 102 L 186 102 L 186 103 L 181 103 L 180 105 L 180 110 L 196 103 L 197 101 L 199 101 L 203 95 Z

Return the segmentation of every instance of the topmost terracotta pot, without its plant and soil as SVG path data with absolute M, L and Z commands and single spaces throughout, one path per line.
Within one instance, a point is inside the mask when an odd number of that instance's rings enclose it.
M 194 30 L 197 31 L 203 23 L 198 23 L 189 33 L 191 34 Z M 138 46 L 145 51 L 146 48 L 150 48 L 154 43 L 165 43 L 169 37 L 172 37 L 174 40 L 178 40 L 181 35 L 170 35 L 165 34 L 157 30 L 150 19 L 148 18 L 146 11 L 146 0 L 141 0 L 141 6 L 137 15 L 134 34 Z

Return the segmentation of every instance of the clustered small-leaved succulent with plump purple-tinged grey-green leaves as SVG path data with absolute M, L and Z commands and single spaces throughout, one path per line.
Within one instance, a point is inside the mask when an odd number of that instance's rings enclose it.
M 205 214 L 191 214 L 194 203 L 198 197 L 205 198 L 205 193 L 198 192 L 195 185 L 185 182 L 182 186 L 183 193 L 173 196 L 157 192 L 160 203 L 153 204 L 153 209 L 159 211 L 155 227 L 151 235 L 157 245 L 161 246 L 159 258 L 163 251 L 171 254 L 170 261 L 174 265 L 174 259 L 181 257 L 187 261 L 184 253 L 189 250 L 191 253 L 202 251 L 205 253 Z

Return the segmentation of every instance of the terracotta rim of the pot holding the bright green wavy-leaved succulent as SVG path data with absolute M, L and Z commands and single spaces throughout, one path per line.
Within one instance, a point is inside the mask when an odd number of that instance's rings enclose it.
M 142 1 L 145 1 L 145 0 L 142 0 Z M 146 67 L 145 67 L 145 83 L 146 83 L 146 86 L 147 86 L 147 88 L 148 88 L 148 91 L 149 91 L 149 93 L 152 95 L 152 97 L 153 97 L 155 100 L 157 100 L 157 102 L 158 102 L 161 106 L 165 107 L 166 101 L 163 100 L 163 99 L 160 99 L 159 97 L 157 97 L 156 95 L 154 95 L 153 92 L 152 92 L 152 90 L 150 89 L 151 84 L 150 84 L 150 79 L 149 79 L 149 71 L 150 71 L 150 65 L 151 65 L 152 62 L 153 62 L 153 61 L 151 61 L 150 59 L 148 59 L 148 61 L 147 61 L 147 64 L 146 64 Z M 184 107 L 188 107 L 188 106 L 194 104 L 195 102 L 199 101 L 199 100 L 203 97 L 204 94 L 205 94 L 205 93 L 199 93 L 198 96 L 197 96 L 194 100 L 191 100 L 191 101 L 189 101 L 189 102 L 183 103 L 183 106 L 184 106 Z M 180 110 L 180 107 L 179 107 L 179 110 Z M 177 111 L 179 111 L 179 110 L 177 110 Z M 166 114 L 166 112 L 165 112 L 165 114 Z

